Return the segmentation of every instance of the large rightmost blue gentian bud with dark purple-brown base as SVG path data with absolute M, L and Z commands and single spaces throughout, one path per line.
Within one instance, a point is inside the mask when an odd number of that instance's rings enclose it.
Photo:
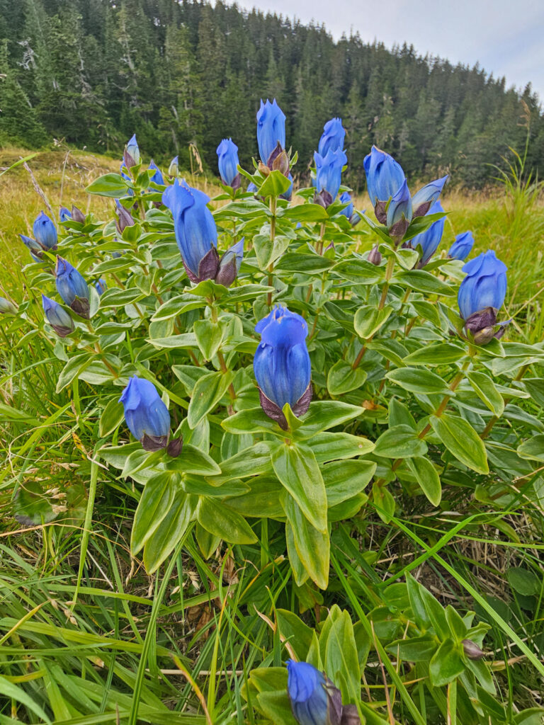
M 490 331 L 500 325 L 493 335 L 500 338 L 504 326 L 497 323 L 497 312 L 506 297 L 506 265 L 489 249 L 463 266 L 466 277 L 461 282 L 458 294 L 459 310 L 465 320 L 466 329 L 474 336 L 477 344 L 490 341 Z

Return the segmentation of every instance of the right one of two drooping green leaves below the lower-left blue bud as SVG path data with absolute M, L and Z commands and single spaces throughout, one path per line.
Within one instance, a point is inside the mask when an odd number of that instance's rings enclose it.
M 144 545 L 144 566 L 152 574 L 176 548 L 194 514 L 197 499 L 178 490 L 173 505 Z

